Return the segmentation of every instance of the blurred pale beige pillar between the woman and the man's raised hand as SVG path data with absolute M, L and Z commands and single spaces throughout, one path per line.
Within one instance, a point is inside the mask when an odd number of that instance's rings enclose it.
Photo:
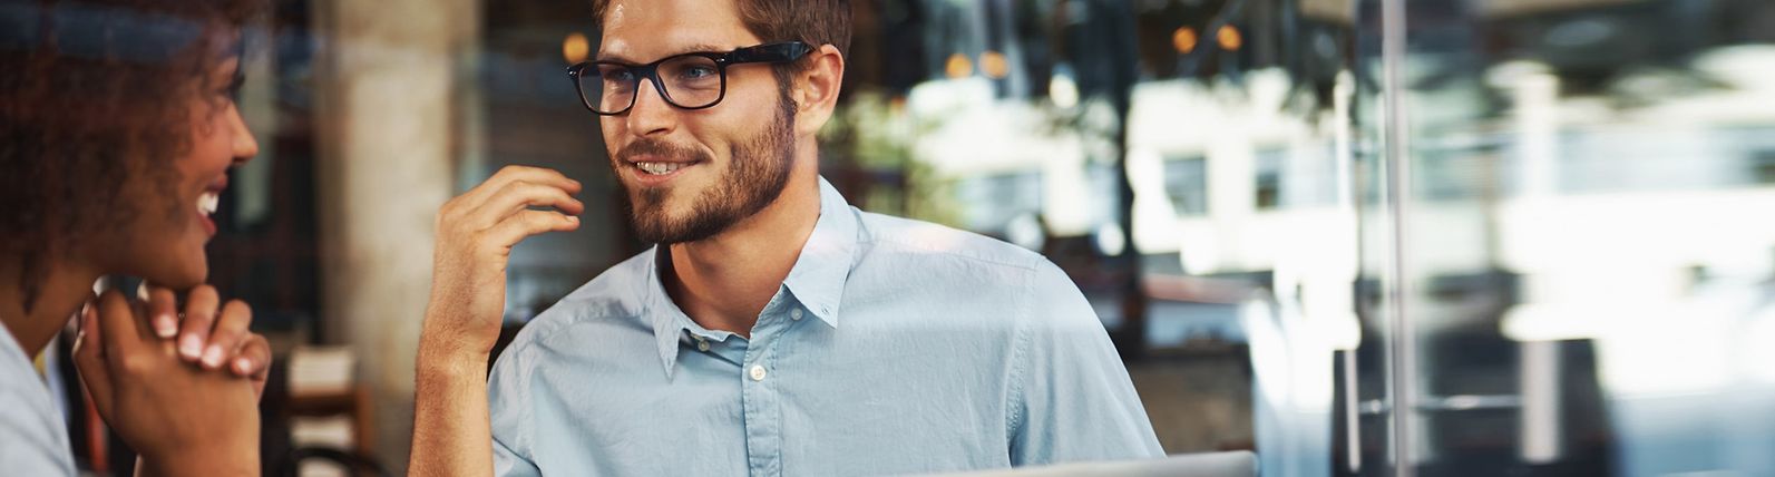
M 376 459 L 405 475 L 433 216 L 454 192 L 476 0 L 314 0 L 323 340 L 351 346 Z

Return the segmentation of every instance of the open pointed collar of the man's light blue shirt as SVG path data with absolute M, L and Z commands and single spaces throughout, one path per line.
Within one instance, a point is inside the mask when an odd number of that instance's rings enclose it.
M 813 225 L 813 234 L 801 248 L 801 257 L 790 268 L 783 285 L 795 300 L 827 326 L 838 326 L 838 307 L 845 293 L 845 280 L 850 278 L 850 264 L 857 248 L 857 215 L 845 202 L 845 197 L 820 177 L 820 220 Z M 671 379 L 678 364 L 678 344 L 685 332 L 705 339 L 726 340 L 733 333 L 710 332 L 678 309 L 660 282 L 662 254 L 659 245 L 643 252 L 646 277 L 635 291 L 641 296 L 643 314 L 653 319 L 653 339 L 659 344 L 660 364 L 666 365 L 666 379 Z

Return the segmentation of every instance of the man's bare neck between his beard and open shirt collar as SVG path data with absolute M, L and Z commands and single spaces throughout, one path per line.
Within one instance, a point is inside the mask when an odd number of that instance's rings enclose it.
M 818 177 L 792 179 L 776 202 L 731 229 L 671 245 L 671 273 L 660 275 L 666 291 L 696 325 L 751 339 L 818 222 Z

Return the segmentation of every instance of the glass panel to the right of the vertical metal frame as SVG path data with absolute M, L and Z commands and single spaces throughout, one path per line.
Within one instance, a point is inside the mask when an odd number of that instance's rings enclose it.
M 1418 473 L 1775 472 L 1775 4 L 1408 16 Z

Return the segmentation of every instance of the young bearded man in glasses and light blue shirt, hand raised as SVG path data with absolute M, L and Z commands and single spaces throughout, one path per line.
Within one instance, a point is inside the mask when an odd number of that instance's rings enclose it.
M 444 206 L 412 472 L 856 475 L 1163 454 L 1065 273 L 857 211 L 818 177 L 848 2 L 595 9 L 598 60 L 572 76 L 635 231 L 659 245 L 536 317 L 483 383 L 506 254 L 579 227 L 584 206 L 579 183 L 538 168 Z

